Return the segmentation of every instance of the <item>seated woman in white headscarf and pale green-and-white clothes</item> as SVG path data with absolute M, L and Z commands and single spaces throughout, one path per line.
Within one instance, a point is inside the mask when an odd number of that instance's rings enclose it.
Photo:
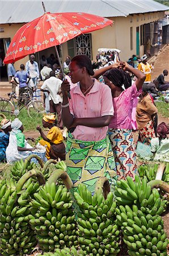
M 24 160 L 29 156 L 29 151 L 35 150 L 27 143 L 23 134 L 23 124 L 18 118 L 12 121 L 11 129 L 9 145 L 6 148 L 6 160 L 8 163 L 13 163 L 20 159 Z

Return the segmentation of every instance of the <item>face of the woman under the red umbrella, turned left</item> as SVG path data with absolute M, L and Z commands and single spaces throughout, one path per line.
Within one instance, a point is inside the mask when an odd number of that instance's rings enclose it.
M 81 81 L 84 76 L 84 68 L 79 68 L 75 61 L 71 61 L 69 64 L 70 73 L 69 76 L 73 84 Z

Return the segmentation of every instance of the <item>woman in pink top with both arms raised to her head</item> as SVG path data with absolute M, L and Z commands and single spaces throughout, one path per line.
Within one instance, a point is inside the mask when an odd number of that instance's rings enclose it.
M 132 81 L 126 71 L 133 73 L 137 81 L 131 86 Z M 118 179 L 126 176 L 134 177 L 137 173 L 136 153 L 132 134 L 132 110 L 133 102 L 141 93 L 145 75 L 138 69 L 122 63 L 119 68 L 112 68 L 104 74 L 105 84 L 112 90 L 113 106 L 115 114 L 109 123 L 109 138 L 115 156 Z M 122 89 L 124 85 L 125 90 Z

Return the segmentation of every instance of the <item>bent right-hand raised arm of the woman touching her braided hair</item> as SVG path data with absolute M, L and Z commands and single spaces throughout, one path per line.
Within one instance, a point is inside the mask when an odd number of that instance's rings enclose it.
M 133 75 L 135 75 L 137 77 L 136 86 L 137 86 L 137 90 L 140 90 L 142 88 L 143 82 L 146 79 L 146 76 L 138 69 L 133 68 L 132 66 L 128 65 L 128 63 L 126 63 L 126 61 L 124 62 L 124 67 L 122 67 L 122 69 L 132 72 Z

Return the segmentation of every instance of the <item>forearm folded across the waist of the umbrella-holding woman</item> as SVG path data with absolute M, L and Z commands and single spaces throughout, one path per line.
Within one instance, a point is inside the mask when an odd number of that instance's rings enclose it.
M 104 127 L 109 125 L 111 118 L 111 115 L 105 115 L 104 117 L 95 118 L 75 118 L 71 127 L 76 127 L 77 125 L 83 125 L 88 127 Z

